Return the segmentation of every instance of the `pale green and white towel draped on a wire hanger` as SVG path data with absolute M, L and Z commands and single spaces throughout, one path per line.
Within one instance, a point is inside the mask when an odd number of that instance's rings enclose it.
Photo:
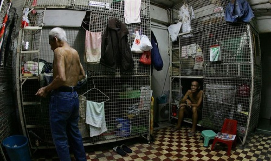
M 90 137 L 107 131 L 104 102 L 86 101 L 86 124 L 90 125 Z

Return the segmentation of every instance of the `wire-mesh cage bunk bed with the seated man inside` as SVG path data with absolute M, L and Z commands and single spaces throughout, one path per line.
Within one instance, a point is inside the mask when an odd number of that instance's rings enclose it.
M 219 131 L 225 118 L 235 119 L 244 145 L 257 126 L 260 108 L 261 58 L 256 20 L 227 23 L 224 11 L 229 2 L 208 0 L 183 1 L 174 6 L 174 22 L 179 22 L 179 10 L 184 3 L 193 16 L 190 31 L 183 33 L 181 28 L 177 41 L 171 42 L 171 100 L 181 96 L 179 92 L 186 81 L 202 80 L 205 94 L 201 125 Z M 191 44 L 197 44 L 195 56 L 202 52 L 201 70 L 195 69 L 195 57 L 183 57 L 187 53 L 183 48 Z M 220 48 L 220 61 L 210 61 L 213 46 Z M 170 106 L 175 115 L 176 105 L 172 101 Z

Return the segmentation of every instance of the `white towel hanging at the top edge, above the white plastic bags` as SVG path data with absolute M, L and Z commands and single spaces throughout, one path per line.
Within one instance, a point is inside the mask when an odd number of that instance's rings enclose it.
M 141 0 L 124 1 L 124 18 L 125 23 L 140 23 Z

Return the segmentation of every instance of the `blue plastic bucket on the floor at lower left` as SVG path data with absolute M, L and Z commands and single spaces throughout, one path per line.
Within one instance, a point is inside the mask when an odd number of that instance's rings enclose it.
M 31 161 L 28 139 L 23 135 L 13 135 L 2 142 L 10 161 Z

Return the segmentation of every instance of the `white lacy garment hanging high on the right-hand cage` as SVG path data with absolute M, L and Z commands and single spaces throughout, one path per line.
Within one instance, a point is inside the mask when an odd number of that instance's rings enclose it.
M 182 22 L 182 33 L 191 31 L 191 19 L 195 18 L 192 6 L 184 4 L 179 9 L 179 20 Z M 183 35 L 183 37 L 191 36 L 191 34 Z

